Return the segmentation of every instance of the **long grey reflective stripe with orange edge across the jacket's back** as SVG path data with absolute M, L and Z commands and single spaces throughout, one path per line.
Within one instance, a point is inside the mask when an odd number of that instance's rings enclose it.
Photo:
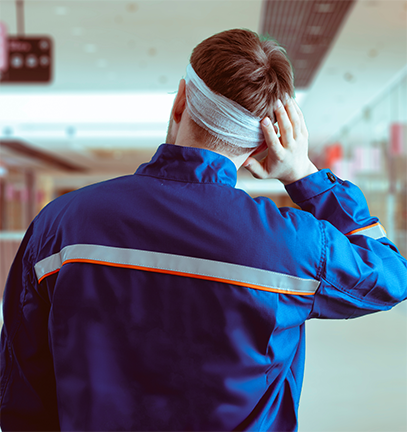
M 39 261 L 35 265 L 38 280 L 41 281 L 70 262 L 127 267 L 286 294 L 314 294 L 320 284 L 315 279 L 303 279 L 226 262 L 137 249 L 81 244 L 66 246 L 61 252 Z

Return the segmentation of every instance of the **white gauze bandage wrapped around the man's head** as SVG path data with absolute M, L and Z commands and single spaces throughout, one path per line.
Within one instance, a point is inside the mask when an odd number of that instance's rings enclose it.
M 187 107 L 195 123 L 237 147 L 256 148 L 262 144 L 261 118 L 235 101 L 214 93 L 190 64 L 185 81 Z

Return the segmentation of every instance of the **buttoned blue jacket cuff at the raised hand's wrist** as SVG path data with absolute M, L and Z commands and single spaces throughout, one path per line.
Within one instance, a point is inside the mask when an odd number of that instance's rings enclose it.
M 341 184 L 342 181 L 331 170 L 323 169 L 286 185 L 285 189 L 290 198 L 299 205 L 303 201 L 332 189 L 337 183 Z

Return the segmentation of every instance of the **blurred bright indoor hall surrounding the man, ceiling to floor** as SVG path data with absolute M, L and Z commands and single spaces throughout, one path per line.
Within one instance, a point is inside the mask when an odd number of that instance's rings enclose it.
M 286 48 L 312 160 L 407 256 L 407 0 L 1 0 L 0 294 L 41 208 L 148 161 L 192 49 L 231 28 Z M 293 205 L 278 181 L 238 187 Z M 406 431 L 406 328 L 404 305 L 308 323 L 299 431 Z

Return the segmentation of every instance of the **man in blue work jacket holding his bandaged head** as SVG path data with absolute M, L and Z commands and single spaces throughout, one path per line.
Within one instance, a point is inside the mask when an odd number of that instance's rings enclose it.
M 153 159 L 28 229 L 4 300 L 3 432 L 294 431 L 305 321 L 406 298 L 360 190 L 308 159 L 283 50 L 226 31 L 187 70 Z M 302 210 L 236 189 L 242 164 Z

